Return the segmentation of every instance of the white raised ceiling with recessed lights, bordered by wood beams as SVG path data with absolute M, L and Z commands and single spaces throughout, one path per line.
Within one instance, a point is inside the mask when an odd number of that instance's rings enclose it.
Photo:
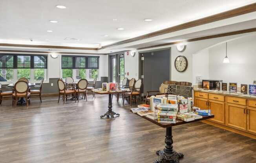
M 100 47 L 254 2 L 256 0 L 0 0 L 0 43 Z M 67 8 L 58 9 L 56 5 Z M 153 21 L 145 22 L 145 18 Z M 54 24 L 49 20 L 59 22 Z M 118 27 L 124 30 L 119 31 Z

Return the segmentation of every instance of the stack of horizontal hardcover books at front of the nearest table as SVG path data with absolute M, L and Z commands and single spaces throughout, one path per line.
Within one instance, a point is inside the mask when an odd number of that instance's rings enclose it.
M 176 123 L 178 105 L 164 104 L 157 105 L 157 120 L 159 123 Z

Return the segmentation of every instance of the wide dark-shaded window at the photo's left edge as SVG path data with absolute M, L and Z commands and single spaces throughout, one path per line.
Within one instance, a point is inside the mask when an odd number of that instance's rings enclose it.
M 0 81 L 16 82 L 27 78 L 30 82 L 46 80 L 47 56 L 27 54 L 0 54 Z

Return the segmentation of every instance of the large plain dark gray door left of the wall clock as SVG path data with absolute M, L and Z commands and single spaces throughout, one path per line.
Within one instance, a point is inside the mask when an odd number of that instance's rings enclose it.
M 170 49 L 143 54 L 143 90 L 146 95 L 146 91 L 159 91 L 161 83 L 170 80 Z

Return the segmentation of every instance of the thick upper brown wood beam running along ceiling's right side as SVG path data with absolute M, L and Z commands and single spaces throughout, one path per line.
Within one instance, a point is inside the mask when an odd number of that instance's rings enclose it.
M 105 48 L 108 48 L 108 47 L 117 46 L 117 45 L 122 45 L 124 43 L 135 42 L 135 41 L 143 40 L 143 39 L 146 39 L 146 38 L 159 36 L 159 35 L 162 35 L 162 34 L 172 33 L 172 32 L 175 32 L 175 31 L 180 31 L 180 30 L 183 30 L 183 29 L 191 28 L 191 27 L 196 27 L 196 26 L 199 26 L 199 25 L 204 25 L 204 24 L 216 22 L 216 21 L 219 21 L 219 20 L 232 18 L 234 16 L 239 16 L 239 15 L 242 15 L 242 14 L 252 13 L 254 11 L 256 11 L 256 3 L 245 5 L 245 6 L 242 6 L 242 7 L 236 8 L 236 9 L 232 9 L 232 10 L 229 10 L 229 11 L 225 11 L 225 12 L 222 12 L 222 13 L 219 13 L 219 14 L 214 14 L 212 16 L 207 16 L 205 18 L 201 18 L 201 19 L 198 19 L 198 20 L 194 20 L 194 21 L 191 21 L 191 22 L 184 23 L 184 24 L 176 25 L 174 27 L 169 27 L 169 28 L 166 28 L 166 29 L 162 29 L 160 31 L 155 31 L 155 32 L 152 32 L 152 33 L 144 34 L 142 36 L 138 36 L 138 37 L 130 38 L 130 39 L 123 40 L 123 41 L 120 41 L 120 42 L 105 45 L 105 46 L 102 46 L 101 48 L 99 48 L 98 50 L 105 49 Z

